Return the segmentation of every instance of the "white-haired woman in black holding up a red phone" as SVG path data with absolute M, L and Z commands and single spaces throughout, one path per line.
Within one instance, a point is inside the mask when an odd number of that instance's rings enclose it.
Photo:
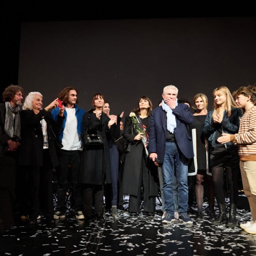
M 24 110 L 20 112 L 22 142 L 19 165 L 27 171 L 30 224 L 36 223 L 40 206 L 47 222 L 54 223 L 53 167 L 59 162 L 53 131 L 56 132 L 57 124 L 48 111 L 57 106 L 56 99 L 45 109 L 41 109 L 42 94 L 30 92 L 25 99 Z M 61 113 L 63 115 L 63 111 L 64 109 L 60 109 L 59 127 L 62 124 Z

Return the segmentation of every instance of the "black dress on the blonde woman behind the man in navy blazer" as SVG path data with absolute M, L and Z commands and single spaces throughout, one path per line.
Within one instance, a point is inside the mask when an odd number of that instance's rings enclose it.
M 192 132 L 192 129 L 196 129 L 196 152 L 194 152 L 194 154 L 196 155 L 198 170 L 206 170 L 207 169 L 205 137 L 204 137 L 203 131 L 202 131 L 206 116 L 207 115 L 194 116 L 194 121 L 190 125 L 191 132 Z M 195 142 L 193 142 L 193 143 L 195 143 Z M 192 161 L 189 171 L 190 171 L 190 173 L 196 171 L 194 161 Z

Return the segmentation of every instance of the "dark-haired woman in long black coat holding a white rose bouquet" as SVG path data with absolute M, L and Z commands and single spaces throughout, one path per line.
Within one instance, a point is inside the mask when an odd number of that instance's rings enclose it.
M 152 103 L 149 98 L 139 98 L 139 107 L 134 111 L 137 119 L 142 124 L 148 142 L 150 113 Z M 140 212 L 140 203 L 143 190 L 143 209 L 149 218 L 154 218 L 155 199 L 158 195 L 157 169 L 148 158 L 142 143 L 143 133 L 136 132 L 131 117 L 128 116 L 124 123 L 124 139 L 132 143 L 131 150 L 125 156 L 123 174 L 123 192 L 129 194 L 129 211 L 132 218 Z

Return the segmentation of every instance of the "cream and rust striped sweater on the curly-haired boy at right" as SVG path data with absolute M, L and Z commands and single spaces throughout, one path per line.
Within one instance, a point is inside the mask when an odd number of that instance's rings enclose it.
M 241 117 L 238 134 L 234 137 L 238 144 L 240 160 L 256 161 L 256 106 Z

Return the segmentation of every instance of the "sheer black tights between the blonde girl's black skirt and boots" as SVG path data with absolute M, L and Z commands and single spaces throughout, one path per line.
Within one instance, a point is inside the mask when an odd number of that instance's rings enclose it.
M 230 203 L 237 204 L 238 196 L 238 185 L 237 185 L 237 174 L 238 168 L 230 169 L 225 168 L 226 179 L 228 181 L 228 188 L 230 191 Z M 215 167 L 211 169 L 212 181 L 214 185 L 214 193 L 217 200 L 217 203 L 225 203 L 225 194 L 223 188 L 223 167 Z

